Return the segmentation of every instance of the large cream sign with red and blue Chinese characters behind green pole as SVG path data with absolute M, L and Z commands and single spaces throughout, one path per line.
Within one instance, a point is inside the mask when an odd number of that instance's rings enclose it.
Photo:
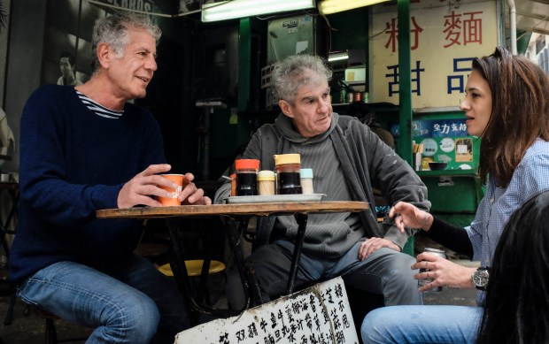
M 397 6 L 379 4 L 370 36 L 370 99 L 398 102 Z M 498 44 L 496 1 L 419 0 L 410 4 L 411 92 L 415 109 L 458 106 L 471 62 Z

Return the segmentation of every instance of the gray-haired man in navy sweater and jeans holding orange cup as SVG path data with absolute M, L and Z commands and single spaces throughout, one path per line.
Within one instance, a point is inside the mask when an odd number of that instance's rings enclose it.
M 189 327 L 174 281 L 133 251 L 134 219 L 97 219 L 96 210 L 160 206 L 174 187 L 159 125 L 128 103 L 157 69 L 159 27 L 130 13 L 98 19 L 95 71 L 80 86 L 47 85 L 21 117 L 19 226 L 9 278 L 19 297 L 72 323 L 95 328 L 89 343 L 173 343 Z M 185 175 L 179 200 L 210 204 Z

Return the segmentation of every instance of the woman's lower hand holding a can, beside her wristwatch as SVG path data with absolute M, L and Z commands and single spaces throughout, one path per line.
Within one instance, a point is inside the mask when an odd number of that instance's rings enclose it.
M 417 262 L 412 265 L 412 270 L 428 269 L 429 271 L 416 273 L 414 279 L 432 279 L 428 284 L 421 286 L 421 292 L 428 291 L 435 287 L 470 288 L 471 275 L 476 270 L 455 264 L 441 256 L 423 252 L 416 258 Z

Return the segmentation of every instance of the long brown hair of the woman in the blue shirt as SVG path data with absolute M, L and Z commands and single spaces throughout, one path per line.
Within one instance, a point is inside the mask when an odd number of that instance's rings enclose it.
M 491 89 L 491 118 L 482 134 L 479 175 L 506 187 L 526 149 L 537 138 L 549 141 L 549 77 L 526 57 L 496 48 L 476 58 L 473 69 Z

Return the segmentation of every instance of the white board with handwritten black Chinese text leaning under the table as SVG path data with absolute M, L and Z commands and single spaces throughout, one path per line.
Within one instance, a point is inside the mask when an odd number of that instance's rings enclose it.
M 175 344 L 188 343 L 357 344 L 359 340 L 343 279 L 336 278 L 175 337 Z

